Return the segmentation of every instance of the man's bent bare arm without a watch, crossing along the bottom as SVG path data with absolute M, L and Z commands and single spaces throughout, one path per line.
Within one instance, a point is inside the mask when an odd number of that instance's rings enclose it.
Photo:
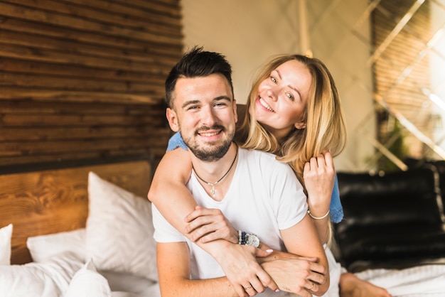
M 245 248 L 253 249 L 253 247 Z M 314 262 L 315 260 L 316 258 L 306 259 L 277 252 L 262 263 L 262 266 L 274 279 L 279 280 L 282 291 L 296 293 L 301 297 L 311 297 L 312 293 L 304 287 L 305 283 L 301 280 L 311 273 L 311 269 L 318 271 L 323 269 Z M 225 276 L 215 279 L 190 279 L 190 254 L 186 242 L 158 243 L 157 261 L 159 286 L 163 297 L 239 296 Z M 318 280 L 322 279 L 323 274 L 319 274 Z M 257 293 L 252 289 L 247 292 L 244 292 L 243 296 L 254 296 Z

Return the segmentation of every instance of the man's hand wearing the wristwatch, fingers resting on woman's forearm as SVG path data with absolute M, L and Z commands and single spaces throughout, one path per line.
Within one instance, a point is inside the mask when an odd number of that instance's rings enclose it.
M 225 239 L 234 244 L 238 243 L 238 232 L 218 209 L 195 207 L 187 215 L 186 229 L 193 242 L 211 242 L 216 239 Z

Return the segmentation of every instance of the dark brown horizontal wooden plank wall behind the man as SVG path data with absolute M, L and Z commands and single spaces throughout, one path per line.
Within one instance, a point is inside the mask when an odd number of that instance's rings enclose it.
M 0 166 L 165 151 L 180 0 L 0 1 Z

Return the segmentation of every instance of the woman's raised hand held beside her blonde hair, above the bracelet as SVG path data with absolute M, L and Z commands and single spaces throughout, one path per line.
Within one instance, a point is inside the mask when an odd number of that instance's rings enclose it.
M 314 217 L 322 217 L 329 210 L 336 171 L 330 152 L 311 158 L 304 164 L 304 184 L 308 205 Z

